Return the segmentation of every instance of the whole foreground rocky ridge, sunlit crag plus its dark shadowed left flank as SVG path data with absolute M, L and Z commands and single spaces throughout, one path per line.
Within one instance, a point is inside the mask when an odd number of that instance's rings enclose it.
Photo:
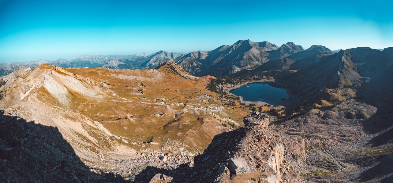
M 289 182 L 294 178 L 293 170 L 283 161 L 284 147 L 268 129 L 268 123 L 268 115 L 254 112 L 244 117 L 246 126 L 216 135 L 204 153 L 195 156 L 194 162 L 177 169 L 147 167 L 135 181 L 163 181 L 158 177 L 165 175 L 173 183 L 226 183 L 229 179 L 253 175 L 261 183 Z M 252 181 L 250 178 L 248 181 Z

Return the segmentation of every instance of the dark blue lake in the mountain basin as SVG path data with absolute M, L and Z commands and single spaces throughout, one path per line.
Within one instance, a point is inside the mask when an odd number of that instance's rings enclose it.
M 282 98 L 286 100 L 289 98 L 285 89 L 273 87 L 265 82 L 248 83 L 229 92 L 237 96 L 242 96 L 243 100 L 246 101 L 263 101 L 270 105 L 281 105 L 284 103 L 281 100 Z

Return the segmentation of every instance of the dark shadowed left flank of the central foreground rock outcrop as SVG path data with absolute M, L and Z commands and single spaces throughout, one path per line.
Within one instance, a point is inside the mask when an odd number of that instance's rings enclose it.
M 182 164 L 177 169 L 161 169 L 146 167 L 135 177 L 136 183 L 149 183 L 156 174 L 164 174 L 173 178 L 174 183 L 182 182 L 214 182 L 219 165 L 226 164 L 228 151 L 235 152 L 239 140 L 246 134 L 245 128 L 224 132 L 214 136 L 203 154 L 194 157 L 194 166 Z M 239 140 L 238 140 L 239 139 Z

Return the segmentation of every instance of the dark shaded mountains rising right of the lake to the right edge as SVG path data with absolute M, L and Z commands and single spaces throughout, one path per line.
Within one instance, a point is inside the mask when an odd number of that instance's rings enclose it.
M 332 54 L 326 47 L 314 45 L 286 58 L 271 60 L 254 72 L 296 71 L 283 81 L 292 87 L 292 94 L 301 94 L 318 93 L 324 87 L 343 88 L 365 78 L 388 78 L 392 65 L 393 48 L 379 51 L 357 47 Z

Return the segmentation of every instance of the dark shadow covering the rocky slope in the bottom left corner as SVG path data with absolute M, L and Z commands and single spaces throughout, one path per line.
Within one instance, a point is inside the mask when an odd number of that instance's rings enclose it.
M 0 111 L 0 138 L 2 174 L 10 182 L 95 182 L 101 177 L 90 172 L 57 127 Z

